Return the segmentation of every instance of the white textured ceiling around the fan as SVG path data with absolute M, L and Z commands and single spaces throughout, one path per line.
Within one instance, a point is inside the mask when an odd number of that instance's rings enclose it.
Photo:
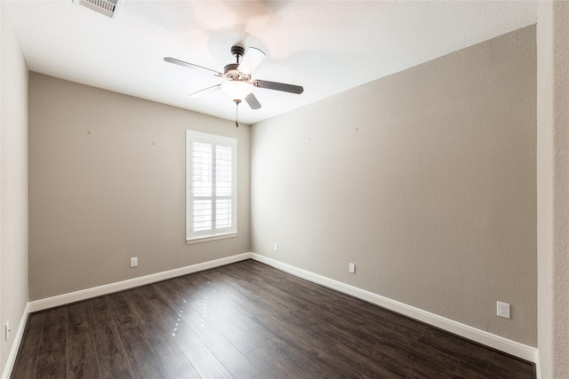
M 173 57 L 222 71 L 233 44 L 267 58 L 254 79 L 299 84 L 304 93 L 255 89 L 254 123 L 452 51 L 524 28 L 537 1 L 143 1 L 123 0 L 116 18 L 72 0 L 2 0 L 32 71 L 228 120 L 220 83 Z

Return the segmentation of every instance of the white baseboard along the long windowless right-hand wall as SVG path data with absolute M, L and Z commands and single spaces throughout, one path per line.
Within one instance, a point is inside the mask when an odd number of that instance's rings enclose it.
M 294 276 L 298 276 L 299 278 L 312 281 L 321 286 L 332 288 L 336 291 L 342 292 L 349 296 L 357 297 L 372 304 L 380 305 L 383 308 L 387 308 L 390 311 L 403 314 L 404 316 L 410 317 L 414 320 L 420 320 L 434 327 L 441 328 L 450 333 L 453 333 L 457 336 L 468 338 L 471 341 L 482 343 L 493 349 L 504 351 L 515 357 L 536 363 L 537 349 L 532 346 L 527 346 L 523 343 L 517 343 L 516 341 L 511 341 L 507 338 L 493 335 L 492 333 L 485 332 L 484 330 L 469 327 L 468 325 L 446 319 L 445 317 L 439 316 L 435 313 L 423 311 L 411 305 L 399 303 L 387 297 L 373 294 L 372 292 L 368 292 L 364 289 L 349 286 L 348 284 L 342 283 L 341 281 L 328 279 L 325 276 L 302 270 L 300 268 L 294 267 L 293 265 L 284 264 L 269 257 L 264 257 L 260 256 L 259 254 L 252 253 L 252 259 L 266 265 L 273 266 L 278 270 L 291 273 Z

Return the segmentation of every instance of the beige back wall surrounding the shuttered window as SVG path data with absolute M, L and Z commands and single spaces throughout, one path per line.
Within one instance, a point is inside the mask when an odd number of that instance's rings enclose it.
M 186 245 L 187 129 L 237 138 L 236 238 Z M 31 299 L 250 251 L 249 132 L 30 73 Z

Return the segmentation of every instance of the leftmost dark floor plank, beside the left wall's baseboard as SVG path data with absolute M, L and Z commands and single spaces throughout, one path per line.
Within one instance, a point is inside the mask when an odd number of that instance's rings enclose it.
M 20 351 L 18 351 L 18 356 L 12 369 L 12 379 L 34 377 L 44 320 L 45 312 L 29 315 L 20 344 Z

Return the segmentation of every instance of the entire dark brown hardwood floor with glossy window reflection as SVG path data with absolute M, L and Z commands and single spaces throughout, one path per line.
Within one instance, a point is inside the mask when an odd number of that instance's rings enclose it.
M 30 315 L 12 378 L 533 378 L 531 363 L 244 261 Z

